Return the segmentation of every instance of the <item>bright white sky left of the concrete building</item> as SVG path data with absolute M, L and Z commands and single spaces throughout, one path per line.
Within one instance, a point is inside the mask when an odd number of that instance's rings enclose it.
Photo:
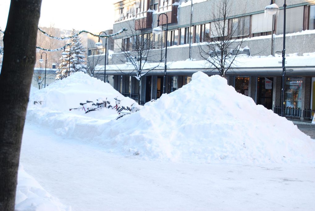
M 117 0 L 42 0 L 39 26 L 87 30 L 98 33 L 112 29 Z M 0 0 L 0 27 L 5 29 L 10 0 Z

